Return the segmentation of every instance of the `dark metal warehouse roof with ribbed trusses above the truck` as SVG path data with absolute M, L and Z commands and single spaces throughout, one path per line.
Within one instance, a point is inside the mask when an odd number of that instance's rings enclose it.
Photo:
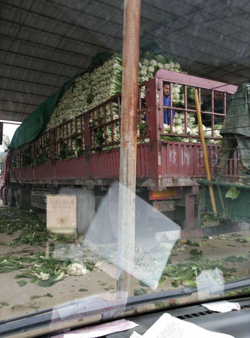
M 250 77 L 250 2 L 141 1 L 140 39 L 190 74 Z M 122 51 L 123 1 L 0 0 L 0 119 L 23 121 L 102 51 Z

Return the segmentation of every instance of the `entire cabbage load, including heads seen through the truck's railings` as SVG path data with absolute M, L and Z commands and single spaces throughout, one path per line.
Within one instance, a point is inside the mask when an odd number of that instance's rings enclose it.
M 180 65 L 174 62 L 171 58 L 167 58 L 161 54 L 154 55 L 151 51 L 147 51 L 143 54 L 139 61 L 139 84 L 144 81 L 148 81 L 155 76 L 158 69 L 165 69 L 174 72 L 184 73 Z M 119 54 L 113 54 L 100 67 L 95 68 L 91 73 L 85 73 L 75 79 L 74 84 L 63 94 L 58 104 L 56 105 L 54 112 L 47 125 L 47 129 L 58 126 L 67 120 L 73 119 L 75 116 L 81 115 L 84 112 L 90 110 L 93 107 L 101 105 L 103 102 L 110 99 L 113 95 L 121 93 L 122 82 L 122 56 Z M 188 102 L 193 102 L 193 90 L 191 87 L 187 87 Z M 145 88 L 141 88 L 141 97 L 145 95 Z M 172 102 L 184 104 L 184 91 L 183 87 L 179 84 L 173 84 L 172 86 Z M 102 146 L 102 150 L 109 150 L 112 147 L 119 147 L 120 132 L 119 132 L 119 115 L 117 102 L 112 103 L 113 119 L 116 120 L 113 123 L 114 132 L 112 140 L 111 124 L 106 127 L 100 127 L 92 132 L 92 147 Z M 98 109 L 92 111 L 90 116 L 90 126 L 103 124 L 104 116 L 106 113 L 106 122 L 111 121 L 111 107 L 110 103 L 105 106 L 101 105 Z M 194 116 L 188 116 L 188 135 L 190 135 L 189 141 L 187 137 L 182 137 L 183 142 L 197 142 L 197 138 L 192 138 L 191 129 L 195 129 L 193 125 L 195 121 Z M 184 113 L 177 113 L 174 119 L 173 132 L 177 135 L 184 134 Z M 80 119 L 77 121 L 77 130 L 73 125 L 73 132 L 80 132 Z M 143 138 L 146 135 L 146 124 L 142 121 L 141 125 L 138 124 L 137 135 L 142 136 L 138 138 L 138 143 L 149 142 L 149 138 Z M 141 129 L 141 132 L 140 132 Z M 176 129 L 176 130 L 175 130 Z M 169 130 L 169 126 L 165 126 L 165 132 Z M 209 130 L 206 130 L 209 133 Z M 194 131 L 193 131 L 194 132 Z M 195 134 L 196 135 L 196 134 Z M 57 133 L 57 139 L 66 137 L 66 128 L 61 129 Z M 94 142 L 95 139 L 95 142 Z M 108 146 L 104 146 L 105 140 Z M 185 141 L 184 141 L 185 140 Z M 115 146 L 109 147 L 110 143 L 117 142 Z M 210 141 L 212 142 L 212 140 Z M 74 142 L 73 142 L 74 143 Z M 78 153 L 80 148 L 79 142 L 75 141 L 73 144 L 73 150 Z M 64 147 L 64 145 L 62 145 Z M 101 148 L 100 148 L 101 149 Z

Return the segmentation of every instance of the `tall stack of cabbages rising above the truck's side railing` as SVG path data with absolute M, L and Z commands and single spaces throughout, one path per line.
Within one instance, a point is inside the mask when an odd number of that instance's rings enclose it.
M 145 52 L 139 62 L 139 83 L 148 81 L 155 76 L 158 69 L 167 69 L 182 72 L 180 65 L 163 55 L 154 55 L 151 51 Z M 100 67 L 95 68 L 91 74 L 85 73 L 75 79 L 74 84 L 66 90 L 50 118 L 46 130 L 58 126 L 69 119 L 78 116 L 89 109 L 105 102 L 111 96 L 121 93 L 122 56 L 113 54 Z M 184 102 L 180 85 L 173 86 L 173 102 Z M 142 88 L 142 97 L 144 95 Z M 110 118 L 110 107 L 106 107 Z M 102 117 L 103 117 L 103 111 Z M 115 108 L 115 115 L 118 110 Z M 95 119 L 95 122 L 97 120 Z

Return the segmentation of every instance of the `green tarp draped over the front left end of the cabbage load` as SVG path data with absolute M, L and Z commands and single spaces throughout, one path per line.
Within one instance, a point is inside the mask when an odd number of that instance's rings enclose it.
M 33 141 L 44 131 L 60 97 L 74 83 L 75 78 L 82 74 L 83 73 L 71 77 L 58 91 L 41 103 L 33 113 L 23 121 L 13 135 L 10 145 L 8 146 L 9 151 Z

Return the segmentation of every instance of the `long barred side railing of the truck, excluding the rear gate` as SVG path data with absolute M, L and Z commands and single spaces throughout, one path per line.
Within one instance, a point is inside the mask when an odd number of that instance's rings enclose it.
M 146 83 L 138 87 L 138 143 L 149 141 L 148 119 L 143 119 L 148 101 L 145 88 Z M 23 166 L 34 162 L 36 164 L 84 155 L 86 151 L 95 153 L 118 148 L 120 119 L 121 94 L 118 94 L 89 111 L 51 128 L 33 142 L 13 149 L 12 165 Z

